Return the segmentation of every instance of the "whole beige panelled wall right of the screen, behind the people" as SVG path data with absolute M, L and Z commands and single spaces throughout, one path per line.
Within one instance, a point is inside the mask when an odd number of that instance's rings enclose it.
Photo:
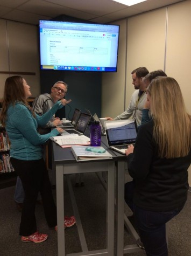
M 126 40 L 122 34 L 119 37 L 122 49 L 119 50 L 118 71 L 112 74 L 112 79 L 107 79 L 109 74 L 103 74 L 102 116 L 115 117 L 128 107 L 134 91 L 131 71 L 139 66 L 146 66 L 149 71 L 162 69 L 168 76 L 174 77 L 180 84 L 186 108 L 191 114 L 190 10 L 191 1 L 188 0 L 115 23 L 122 26 L 121 33 L 125 32 L 124 24 L 128 24 L 127 47 L 125 49 L 125 41 L 121 41 Z M 126 67 L 125 71 L 120 69 L 121 64 Z M 188 172 L 191 186 L 191 167 Z

